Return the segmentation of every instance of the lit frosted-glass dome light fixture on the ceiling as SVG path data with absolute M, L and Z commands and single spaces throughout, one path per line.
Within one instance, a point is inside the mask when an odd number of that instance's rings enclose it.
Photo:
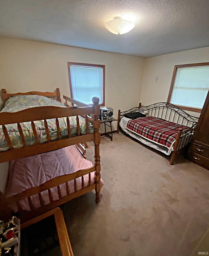
M 125 20 L 121 17 L 116 17 L 113 20 L 109 20 L 105 23 L 105 28 L 116 35 L 125 34 L 132 30 L 134 27 L 134 22 Z

